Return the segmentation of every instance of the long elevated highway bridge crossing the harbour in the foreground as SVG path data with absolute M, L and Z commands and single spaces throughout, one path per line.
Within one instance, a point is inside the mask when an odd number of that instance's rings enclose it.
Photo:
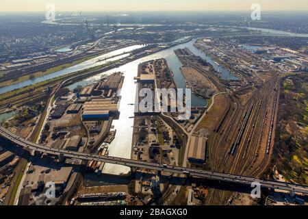
M 252 185 L 252 183 L 260 183 L 263 188 L 293 191 L 302 194 L 308 194 L 308 185 L 299 185 L 295 183 L 285 183 L 279 181 L 268 181 L 263 179 L 255 179 L 252 177 L 243 177 L 238 175 L 229 175 L 221 172 L 211 172 L 204 170 L 194 170 L 192 168 L 184 168 L 180 166 L 170 166 L 166 164 L 154 164 L 150 162 L 141 162 L 133 159 L 125 159 L 120 157 L 101 156 L 88 153 L 79 153 L 76 151 L 66 151 L 62 149 L 52 149 L 48 146 L 41 146 L 33 142 L 29 142 L 21 137 L 16 136 L 14 133 L 0 127 L 0 136 L 14 142 L 24 149 L 38 151 L 40 153 L 46 153 L 48 155 L 55 155 L 59 157 L 82 159 L 86 161 L 105 162 L 109 164 L 118 164 L 123 166 L 129 166 L 131 168 L 146 168 L 151 170 L 159 170 L 164 172 L 171 172 L 175 174 L 187 175 L 191 177 L 199 177 L 205 179 L 212 179 L 216 181 L 224 181 L 231 183 L 238 183 L 242 185 Z

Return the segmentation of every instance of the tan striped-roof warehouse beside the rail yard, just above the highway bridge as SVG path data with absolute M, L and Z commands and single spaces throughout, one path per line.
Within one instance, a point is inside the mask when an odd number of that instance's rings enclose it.
M 206 143 L 206 138 L 192 136 L 190 140 L 190 149 L 188 151 L 188 160 L 190 162 L 200 164 L 205 162 Z

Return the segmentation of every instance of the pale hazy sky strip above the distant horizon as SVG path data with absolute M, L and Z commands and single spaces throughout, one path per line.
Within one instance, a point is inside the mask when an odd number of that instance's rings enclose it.
M 2 12 L 45 11 L 53 3 L 63 11 L 250 11 L 259 3 L 264 11 L 306 10 L 308 0 L 0 0 Z

